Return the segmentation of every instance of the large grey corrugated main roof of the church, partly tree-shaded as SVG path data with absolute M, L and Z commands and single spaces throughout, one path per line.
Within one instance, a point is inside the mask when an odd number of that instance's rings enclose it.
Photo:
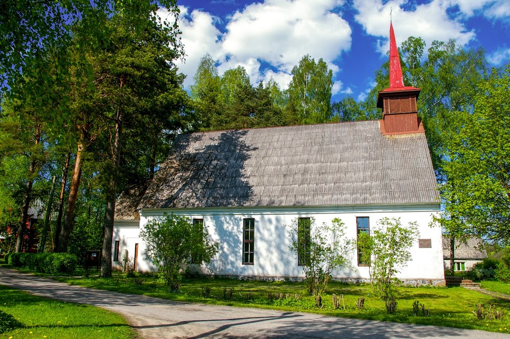
M 423 133 L 379 121 L 180 135 L 139 208 L 437 203 Z

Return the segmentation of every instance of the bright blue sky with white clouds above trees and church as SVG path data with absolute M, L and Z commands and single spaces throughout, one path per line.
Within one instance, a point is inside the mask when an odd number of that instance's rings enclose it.
M 179 63 L 193 82 L 209 53 L 220 74 L 244 66 L 253 84 L 271 77 L 287 88 L 302 56 L 322 58 L 333 70 L 333 101 L 363 99 L 388 58 L 390 8 L 397 44 L 409 36 L 455 39 L 482 47 L 491 66 L 510 61 L 510 0 L 178 0 L 186 51 Z M 168 15 L 164 9 L 159 15 Z

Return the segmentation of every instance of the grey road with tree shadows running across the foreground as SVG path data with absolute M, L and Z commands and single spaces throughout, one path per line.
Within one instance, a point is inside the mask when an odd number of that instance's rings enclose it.
M 124 316 L 145 339 L 416 338 L 508 339 L 510 335 L 448 327 L 325 317 L 298 312 L 174 302 L 100 291 L 0 269 L 0 284 L 32 294 L 103 307 Z

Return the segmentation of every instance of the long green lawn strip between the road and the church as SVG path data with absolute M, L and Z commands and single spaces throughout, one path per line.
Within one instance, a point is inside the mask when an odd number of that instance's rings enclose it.
M 101 290 L 144 294 L 177 301 L 305 311 L 337 317 L 510 333 L 510 304 L 508 302 L 464 288 L 400 287 L 397 296 L 397 312 L 395 315 L 388 315 L 384 303 L 373 296 L 369 285 L 330 282 L 327 293 L 322 298 L 323 307 L 317 308 L 314 298 L 305 295 L 305 285 L 302 282 L 187 278 L 183 281 L 179 292 L 172 293 L 166 286 L 158 284 L 154 277 L 143 277 L 141 285 L 136 284 L 135 279 L 126 279 L 121 275 L 107 279 L 62 277 L 58 280 Z M 209 295 L 207 288 L 210 289 Z M 231 300 L 227 300 L 228 297 L 224 296 L 223 289 L 226 289 L 225 292 L 228 292 L 228 289 L 233 290 Z M 268 293 L 271 293 L 273 300 L 269 299 Z M 282 300 L 274 298 L 275 293 L 278 295 L 282 293 Z M 289 294 L 288 298 L 286 294 Z M 301 300 L 296 300 L 296 294 L 301 295 Z M 344 295 L 345 309 L 342 304 L 340 304 L 340 309 L 334 308 L 332 294 Z M 365 297 L 363 310 L 355 306 L 356 300 L 360 297 Z M 413 315 L 412 304 L 416 300 L 429 309 L 428 317 Z M 478 320 L 472 313 L 477 303 L 504 308 L 508 316 L 503 321 Z

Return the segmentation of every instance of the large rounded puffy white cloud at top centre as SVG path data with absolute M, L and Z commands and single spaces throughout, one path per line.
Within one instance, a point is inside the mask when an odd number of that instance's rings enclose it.
M 339 5 L 335 0 L 267 0 L 248 5 L 226 25 L 224 53 L 258 58 L 288 73 L 306 54 L 323 58 L 331 67 L 351 44 L 349 24 L 331 12 Z

